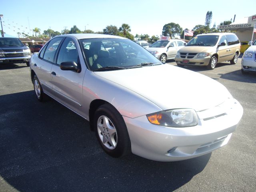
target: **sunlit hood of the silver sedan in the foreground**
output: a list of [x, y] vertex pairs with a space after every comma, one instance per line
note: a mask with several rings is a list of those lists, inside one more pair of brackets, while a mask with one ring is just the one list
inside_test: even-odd
[[163, 110], [200, 111], [232, 98], [216, 80], [169, 64], [94, 73], [136, 92]]

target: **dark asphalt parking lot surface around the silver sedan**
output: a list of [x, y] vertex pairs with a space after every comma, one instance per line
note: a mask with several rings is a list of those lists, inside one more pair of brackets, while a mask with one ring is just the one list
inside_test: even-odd
[[37, 101], [26, 64], [0, 65], [0, 191], [255, 192], [256, 74], [240, 65], [185, 67], [224, 84], [244, 115], [226, 146], [180, 162], [108, 156], [86, 120]]

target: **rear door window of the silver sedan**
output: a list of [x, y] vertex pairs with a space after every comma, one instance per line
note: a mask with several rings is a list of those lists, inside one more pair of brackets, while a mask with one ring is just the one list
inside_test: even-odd
[[58, 38], [54, 38], [53, 40], [51, 40], [48, 45], [47, 48], [44, 52], [44, 57], [43, 59], [48, 60], [50, 62], [54, 62], [54, 57], [56, 54], [56, 51], [58, 49], [58, 46], [60, 45], [60, 42], [62, 41], [63, 38], [58, 37]]

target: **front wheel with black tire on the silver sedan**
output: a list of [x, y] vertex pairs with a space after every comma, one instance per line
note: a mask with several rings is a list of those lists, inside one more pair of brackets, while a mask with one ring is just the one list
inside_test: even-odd
[[100, 106], [94, 114], [93, 124], [96, 138], [108, 155], [118, 158], [130, 154], [131, 142], [126, 124], [112, 105]]

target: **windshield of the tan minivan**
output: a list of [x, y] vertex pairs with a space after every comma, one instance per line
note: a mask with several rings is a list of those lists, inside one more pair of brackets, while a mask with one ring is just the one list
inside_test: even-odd
[[218, 35], [200, 35], [192, 38], [186, 46], [215, 46], [219, 39]]

